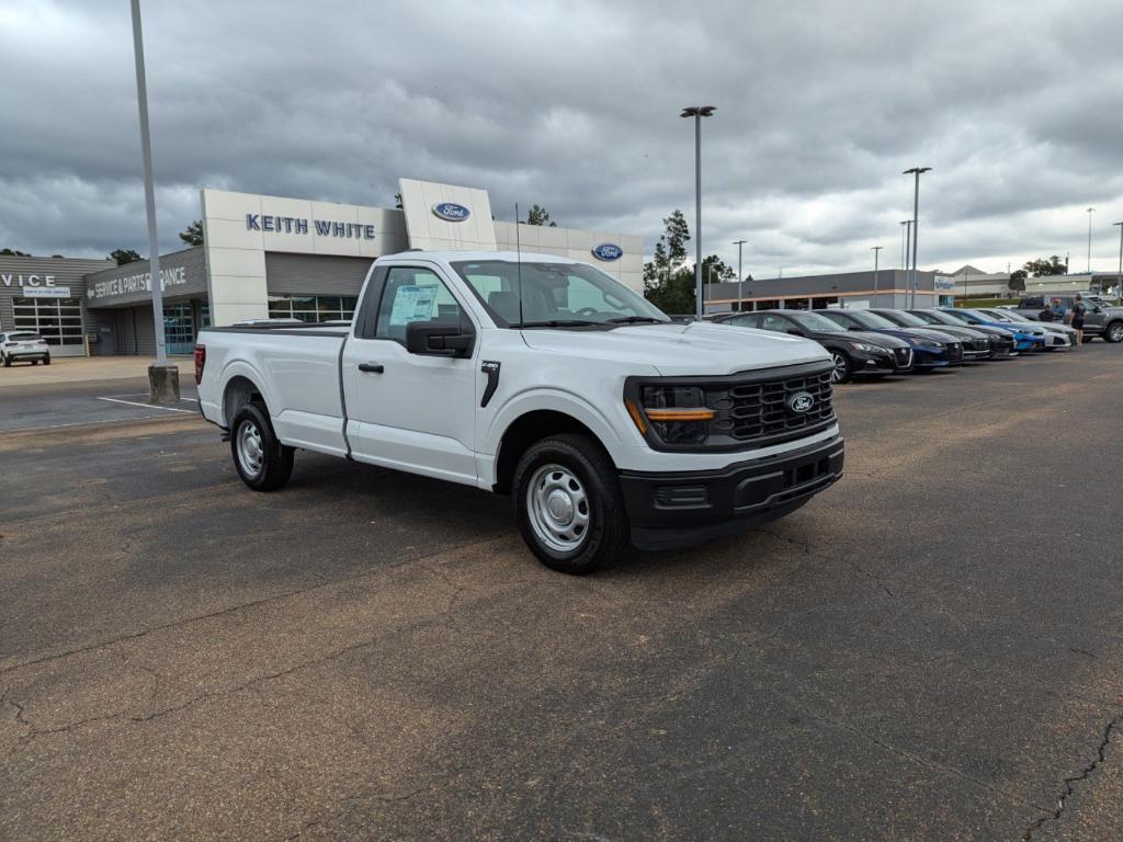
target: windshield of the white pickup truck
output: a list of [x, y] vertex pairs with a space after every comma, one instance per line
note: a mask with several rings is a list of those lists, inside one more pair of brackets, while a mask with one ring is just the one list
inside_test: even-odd
[[641, 295], [584, 263], [463, 260], [453, 268], [501, 328], [670, 321]]

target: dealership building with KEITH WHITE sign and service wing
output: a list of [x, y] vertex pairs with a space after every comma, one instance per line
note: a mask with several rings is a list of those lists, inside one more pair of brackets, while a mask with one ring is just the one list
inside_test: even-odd
[[[159, 258], [167, 353], [210, 324], [349, 319], [374, 258], [410, 249], [559, 255], [642, 290], [639, 236], [503, 222], [485, 190], [399, 185], [401, 209], [202, 190], [203, 245]], [[0, 332], [34, 330], [56, 356], [153, 355], [150, 291], [147, 260], [0, 256]]]

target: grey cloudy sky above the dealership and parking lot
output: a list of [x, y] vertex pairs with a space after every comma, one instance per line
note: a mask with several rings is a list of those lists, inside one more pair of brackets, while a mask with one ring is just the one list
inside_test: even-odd
[[[1114, 267], [1123, 7], [939, 2], [144, 0], [162, 250], [199, 187], [392, 207], [400, 176], [559, 225], [693, 229], [758, 277], [1071, 253]], [[0, 0], [0, 247], [146, 253], [127, 0]]]

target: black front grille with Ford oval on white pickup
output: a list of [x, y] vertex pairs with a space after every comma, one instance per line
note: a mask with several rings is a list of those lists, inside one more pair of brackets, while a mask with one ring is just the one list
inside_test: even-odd
[[[811, 395], [813, 403], [806, 412], [794, 412], [788, 399], [801, 393]], [[733, 385], [707, 397], [718, 412], [714, 427], [742, 442], [774, 443], [809, 434], [834, 421], [829, 370]]]

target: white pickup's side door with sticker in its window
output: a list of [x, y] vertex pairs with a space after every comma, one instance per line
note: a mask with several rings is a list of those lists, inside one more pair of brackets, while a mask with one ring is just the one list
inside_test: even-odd
[[[368, 287], [341, 359], [351, 455], [474, 485], [478, 326], [431, 267], [376, 271]], [[476, 340], [466, 358], [411, 354], [411, 322], [462, 324]]]

